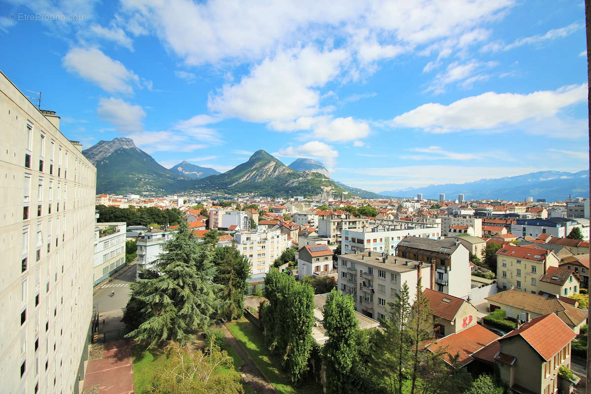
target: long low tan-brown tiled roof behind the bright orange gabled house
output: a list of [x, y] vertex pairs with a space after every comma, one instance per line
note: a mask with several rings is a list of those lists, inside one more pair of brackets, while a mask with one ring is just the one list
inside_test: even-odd
[[510, 289], [491, 295], [491, 297], [486, 297], [485, 299], [538, 315], [555, 313], [569, 327], [579, 325], [587, 318], [587, 312], [575, 308], [573, 305], [561, 301], [558, 298], [544, 297], [543, 295], [531, 294], [525, 291]]

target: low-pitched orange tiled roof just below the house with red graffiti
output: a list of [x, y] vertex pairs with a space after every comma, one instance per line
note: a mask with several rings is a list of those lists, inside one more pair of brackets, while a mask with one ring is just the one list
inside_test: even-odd
[[[449, 346], [447, 353], [450, 356], [459, 354], [459, 366], [463, 367], [467, 363], [472, 361], [470, 355], [479, 349], [482, 349], [492, 341], [495, 341], [499, 336], [492, 331], [487, 330], [480, 324], [473, 325], [472, 327], [466, 328], [459, 333], [450, 334], [447, 337], [443, 337], [440, 340], [431, 343], [427, 346], [427, 349], [433, 351], [433, 353], [441, 349], [442, 347]], [[448, 362], [448, 360], [445, 360]]]

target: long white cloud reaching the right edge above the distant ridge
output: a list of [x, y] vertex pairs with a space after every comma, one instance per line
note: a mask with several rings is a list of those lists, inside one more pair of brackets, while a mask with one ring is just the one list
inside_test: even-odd
[[559, 110], [586, 99], [586, 84], [564, 86], [557, 90], [544, 90], [528, 95], [488, 92], [457, 100], [450, 105], [421, 105], [396, 116], [392, 120], [392, 126], [421, 128], [437, 133], [493, 129], [515, 125], [527, 119], [548, 119], [557, 115]]

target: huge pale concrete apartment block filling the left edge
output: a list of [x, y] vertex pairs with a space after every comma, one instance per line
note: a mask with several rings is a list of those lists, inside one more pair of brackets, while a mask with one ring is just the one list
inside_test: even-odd
[[77, 393], [92, 322], [96, 168], [0, 73], [0, 391]]

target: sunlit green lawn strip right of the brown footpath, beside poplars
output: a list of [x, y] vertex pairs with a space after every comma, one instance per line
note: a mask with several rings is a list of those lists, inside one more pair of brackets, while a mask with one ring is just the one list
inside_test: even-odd
[[263, 343], [262, 333], [246, 318], [241, 318], [226, 324], [233, 336], [242, 344], [246, 353], [259, 366], [262, 372], [271, 380], [275, 389], [282, 394], [322, 393], [322, 388], [316, 383], [294, 388], [290, 384], [287, 373], [278, 369], [281, 364], [277, 358], [269, 353]]

